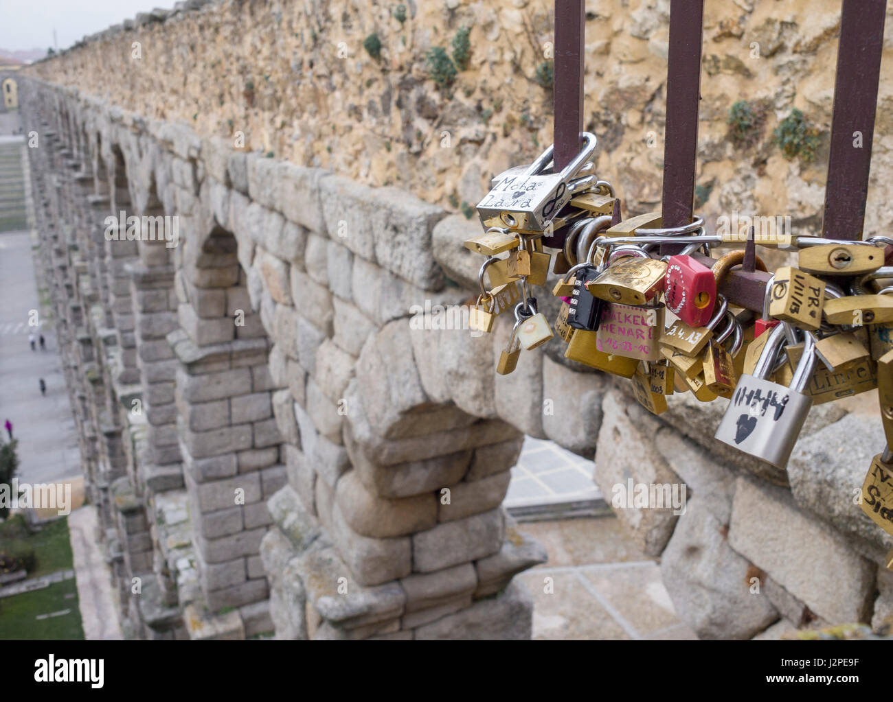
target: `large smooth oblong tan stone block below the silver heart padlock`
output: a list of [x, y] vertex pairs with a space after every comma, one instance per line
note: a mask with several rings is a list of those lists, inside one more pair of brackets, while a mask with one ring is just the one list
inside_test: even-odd
[[739, 478], [729, 542], [822, 618], [868, 621], [874, 566], [839, 533], [797, 509], [788, 491]]

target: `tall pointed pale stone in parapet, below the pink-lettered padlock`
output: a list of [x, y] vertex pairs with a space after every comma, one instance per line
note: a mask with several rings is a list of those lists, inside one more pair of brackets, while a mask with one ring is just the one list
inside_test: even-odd
[[[613, 506], [615, 495], [619, 499], [629, 491], [630, 480], [646, 486], [681, 484], [655, 449], [653, 440], [660, 423], [647, 410], [610, 390], [605, 393], [602, 412], [605, 418], [598, 432], [594, 477], [605, 502]], [[677, 491], [681, 495], [681, 487]], [[644, 553], [659, 556], [676, 524], [674, 508], [635, 507], [632, 495], [628, 497], [622, 507], [614, 508], [614, 514]]]

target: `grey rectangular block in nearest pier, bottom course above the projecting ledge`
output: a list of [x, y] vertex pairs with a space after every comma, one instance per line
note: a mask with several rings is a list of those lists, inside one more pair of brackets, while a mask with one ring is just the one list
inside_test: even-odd
[[413, 534], [413, 570], [430, 573], [496, 553], [505, 534], [502, 508]]

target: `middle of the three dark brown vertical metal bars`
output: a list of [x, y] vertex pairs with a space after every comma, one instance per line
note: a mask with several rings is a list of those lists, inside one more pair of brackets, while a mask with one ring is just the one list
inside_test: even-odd
[[[672, 0], [663, 135], [663, 227], [689, 224], [694, 209], [703, 37], [704, 0]], [[661, 247], [662, 254], [679, 250], [679, 244]]]

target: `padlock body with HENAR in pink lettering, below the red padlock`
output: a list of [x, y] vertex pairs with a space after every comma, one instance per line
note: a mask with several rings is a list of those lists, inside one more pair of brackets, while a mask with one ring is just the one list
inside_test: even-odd
[[598, 350], [630, 359], [662, 358], [657, 342], [663, 334], [664, 313], [663, 303], [653, 307], [605, 303], [597, 331]]

